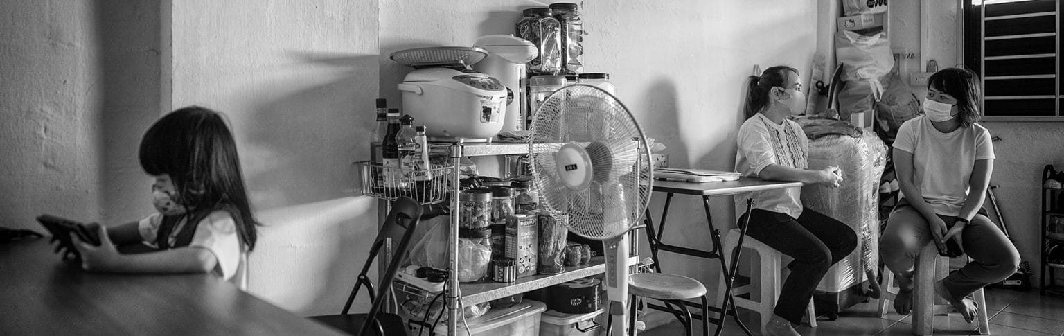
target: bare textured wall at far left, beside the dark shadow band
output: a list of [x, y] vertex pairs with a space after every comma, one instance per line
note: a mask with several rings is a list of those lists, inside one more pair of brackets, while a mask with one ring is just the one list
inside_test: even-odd
[[0, 1], [0, 225], [100, 217], [102, 97], [89, 1]]

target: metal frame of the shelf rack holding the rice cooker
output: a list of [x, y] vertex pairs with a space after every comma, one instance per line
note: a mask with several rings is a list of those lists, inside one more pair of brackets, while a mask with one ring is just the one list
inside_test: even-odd
[[[443, 202], [448, 200], [450, 202], [451, 208], [459, 208], [458, 204], [458, 194], [460, 186], [459, 179], [461, 174], [456, 173], [461, 171], [460, 161], [462, 157], [467, 156], [496, 156], [496, 155], [522, 155], [529, 153], [539, 153], [539, 152], [555, 152], [559, 148], [566, 144], [578, 144], [586, 145], [581, 142], [559, 142], [559, 144], [538, 144], [529, 145], [528, 142], [488, 142], [488, 144], [463, 144], [463, 142], [430, 142], [429, 152], [430, 156], [446, 156], [447, 165], [433, 166], [433, 171], [438, 170], [438, 174], [433, 178], [434, 186], [446, 186], [445, 188], [435, 188], [437, 194], [429, 195], [430, 197], [421, 199], [419, 201], [425, 201], [426, 203], [432, 202]], [[435, 161], [434, 161], [435, 162]], [[378, 192], [382, 190], [375, 190], [370, 188], [366, 192], [366, 186], [372, 186], [373, 172], [375, 170], [387, 171], [387, 169], [396, 168], [385, 168], [371, 163], [356, 163], [362, 172], [363, 182], [363, 195], [377, 197], [380, 199], [380, 204], [378, 205], [378, 220], [383, 222], [384, 216], [388, 211], [387, 201], [394, 200], [395, 197], [390, 197], [394, 194], [388, 192]], [[409, 173], [409, 171], [392, 171], [392, 173], [398, 173], [402, 175], [403, 173]], [[446, 177], [446, 178], [439, 178]], [[438, 181], [437, 181], [438, 179]], [[367, 182], [369, 182], [367, 184]], [[401, 196], [401, 195], [400, 195]], [[449, 197], [448, 197], [449, 196]], [[458, 216], [449, 216], [451, 228], [459, 226]], [[631, 241], [637, 241], [636, 234], [630, 232]], [[531, 276], [525, 276], [517, 279], [513, 283], [496, 283], [496, 282], [473, 282], [473, 283], [459, 283], [458, 281], [458, 230], [449, 230], [447, 237], [447, 262], [448, 262], [448, 276], [447, 286], [444, 286], [444, 302], [447, 308], [447, 331], [448, 335], [458, 334], [458, 322], [461, 321], [458, 315], [462, 313], [462, 306], [468, 306], [478, 303], [488, 302], [495, 299], [501, 299], [510, 297], [513, 295], [526, 292], [533, 289], [538, 289], [551, 285], [561, 284], [564, 282], [593, 276], [597, 274], [602, 274], [605, 272], [605, 266], [603, 265], [603, 257], [593, 257], [591, 265], [580, 266], [580, 267], [566, 267], [566, 271], [560, 274], [536, 274]], [[631, 254], [629, 254], [628, 265], [636, 265], [637, 259], [637, 247], [638, 245], [633, 243], [631, 248]], [[629, 268], [630, 272], [632, 267]], [[423, 297], [432, 298], [437, 295], [438, 289], [426, 288], [427, 285], [422, 284], [417, 286], [412, 284], [413, 282], [403, 282], [401, 279], [397, 279], [397, 282], [393, 286], [394, 289], [403, 291], [406, 293], [418, 295]], [[435, 285], [438, 286], [438, 285]], [[461, 293], [461, 305], [459, 304]]]

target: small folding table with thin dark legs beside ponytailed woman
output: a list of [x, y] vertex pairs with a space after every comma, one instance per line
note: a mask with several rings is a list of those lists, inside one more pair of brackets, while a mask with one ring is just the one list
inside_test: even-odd
[[[800, 186], [802, 186], [801, 182], [764, 181], [754, 178], [739, 178], [738, 181], [705, 182], [705, 183], [654, 181], [653, 190], [659, 192], [666, 192], [666, 197], [665, 197], [665, 207], [662, 209], [662, 217], [661, 221], [659, 221], [658, 223], [658, 228], [654, 228], [653, 220], [650, 217], [649, 208], [647, 209], [646, 214], [647, 237], [650, 240], [650, 255], [654, 261], [654, 264], [651, 267], [654, 268], [658, 272], [661, 272], [661, 263], [658, 259], [658, 252], [662, 251], [720, 261], [720, 271], [726, 274], [725, 297], [721, 299], [719, 307], [714, 307], [714, 306], [710, 307], [710, 310], [720, 315], [719, 318], [715, 319], [714, 321], [714, 319], [709, 319], [708, 317], [699, 316], [697, 314], [693, 315], [694, 317], [699, 319], [709, 319], [710, 322], [717, 324], [717, 331], [715, 335], [720, 335], [720, 332], [724, 330], [724, 321], [725, 318], [727, 317], [728, 307], [730, 307], [732, 312], [735, 312], [735, 303], [732, 302], [731, 300], [732, 299], [731, 290], [735, 280], [736, 270], [738, 269], [738, 267], [735, 266], [738, 264], [739, 254], [742, 253], [743, 249], [738, 249], [735, 253], [732, 254], [731, 263], [728, 263], [728, 261], [725, 259], [724, 253], [721, 251], [722, 245], [720, 242], [720, 231], [713, 225], [713, 218], [710, 216], [710, 197], [737, 195], [751, 191], [783, 189], [783, 188], [800, 187]], [[704, 250], [668, 245], [662, 241], [662, 235], [665, 232], [665, 219], [668, 217], [669, 204], [672, 201], [672, 196], [675, 196], [676, 194], [702, 197], [702, 206], [705, 211], [705, 222], [706, 224], [710, 225], [710, 238], [713, 241], [713, 250], [704, 251]], [[751, 204], [753, 204], [753, 199], [747, 197], [746, 221], [739, 225], [741, 234], [738, 237], [738, 243], [736, 246], [743, 246], [743, 240], [744, 238], [746, 238], [746, 229], [747, 225], [750, 223], [749, 214], [751, 209]], [[686, 302], [686, 301], [684, 302], [687, 303], [689, 306], [700, 307], [700, 304], [698, 303]], [[678, 310], [676, 308], [672, 308], [671, 305], [668, 304], [666, 304], [665, 306], [656, 304], [648, 304], [647, 306], [660, 310], [669, 312], [672, 314], [686, 314], [685, 307], [681, 307], [683, 310]], [[743, 324], [743, 321], [738, 319], [738, 316], [734, 314], [733, 316], [735, 317], [735, 322], [738, 323], [739, 327], [742, 327], [747, 335], [752, 335], [750, 333], [750, 330], [748, 330], [746, 325]]]

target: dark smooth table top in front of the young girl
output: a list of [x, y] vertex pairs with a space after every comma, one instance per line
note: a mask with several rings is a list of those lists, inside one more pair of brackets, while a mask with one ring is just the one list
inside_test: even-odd
[[342, 335], [209, 274], [109, 274], [0, 243], [0, 335]]

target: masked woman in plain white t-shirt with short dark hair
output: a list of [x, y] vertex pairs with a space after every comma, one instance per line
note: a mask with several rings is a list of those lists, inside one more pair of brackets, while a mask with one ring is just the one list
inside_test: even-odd
[[[961, 68], [935, 72], [928, 80], [924, 115], [905, 121], [894, 142], [894, 167], [901, 186], [880, 242], [883, 264], [895, 273], [898, 314], [912, 309], [916, 256], [933, 241], [940, 253], [972, 262], [935, 283], [971, 322], [976, 305], [967, 295], [1004, 280], [1016, 270], [1019, 253], [982, 211], [994, 171], [991, 134], [980, 119], [979, 77]], [[952, 241], [950, 241], [952, 239]], [[951, 252], [951, 250], [954, 250]]]

